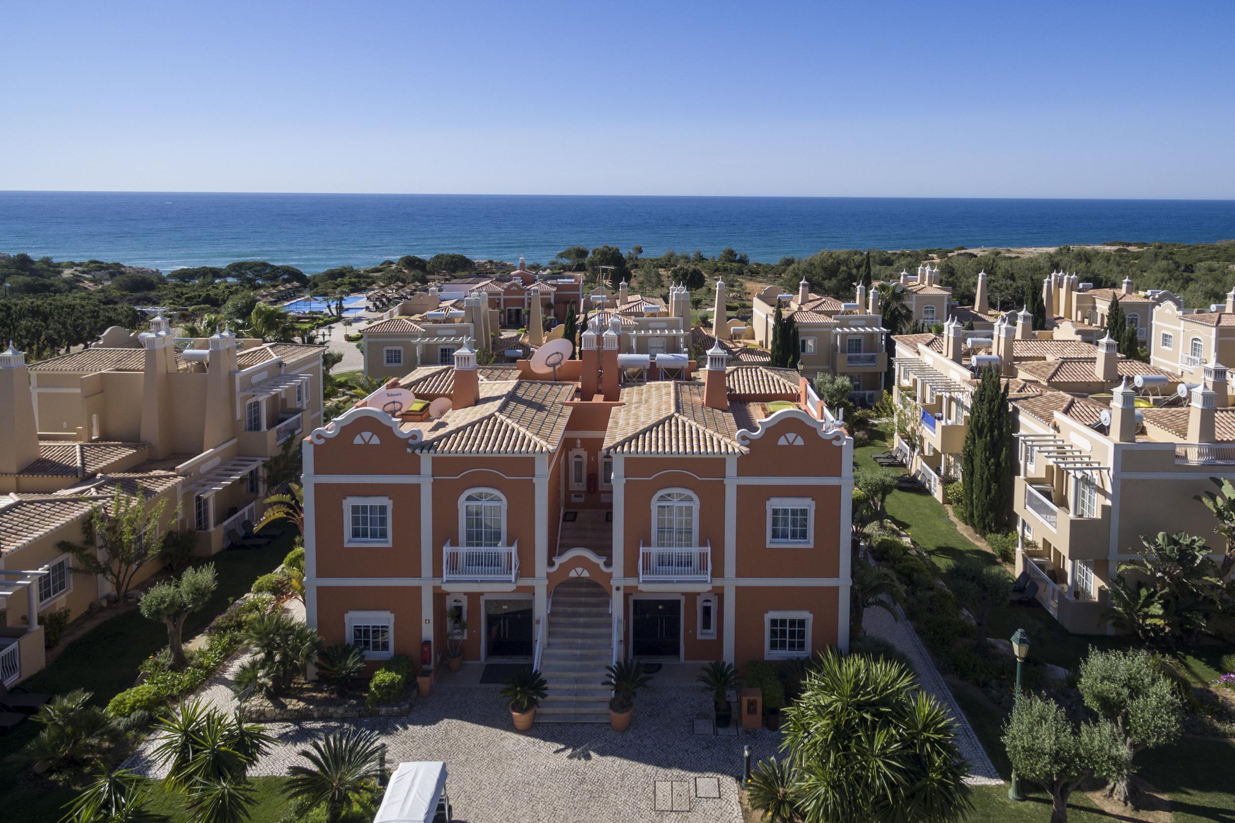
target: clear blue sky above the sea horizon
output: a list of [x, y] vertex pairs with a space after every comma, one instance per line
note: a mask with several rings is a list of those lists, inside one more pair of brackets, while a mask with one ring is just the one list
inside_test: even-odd
[[11, 2], [0, 189], [1235, 197], [1235, 2]]

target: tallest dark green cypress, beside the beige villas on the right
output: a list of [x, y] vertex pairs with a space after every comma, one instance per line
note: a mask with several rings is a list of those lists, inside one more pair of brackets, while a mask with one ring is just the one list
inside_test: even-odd
[[973, 392], [969, 428], [961, 452], [961, 517], [978, 534], [997, 532], [1011, 503], [1011, 413], [1008, 384], [994, 368], [983, 369]]

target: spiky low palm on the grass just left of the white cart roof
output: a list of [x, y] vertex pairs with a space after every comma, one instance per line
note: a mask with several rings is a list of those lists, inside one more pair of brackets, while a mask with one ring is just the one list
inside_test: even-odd
[[374, 791], [380, 776], [382, 744], [371, 729], [356, 727], [331, 732], [300, 749], [308, 766], [288, 767], [284, 793], [309, 808], [326, 807], [326, 823], [338, 823], [359, 797]]

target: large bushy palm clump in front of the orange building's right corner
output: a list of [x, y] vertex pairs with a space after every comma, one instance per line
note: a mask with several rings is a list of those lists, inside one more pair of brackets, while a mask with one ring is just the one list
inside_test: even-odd
[[[958, 823], [972, 811], [955, 723], [899, 661], [819, 655], [781, 745], [803, 823]], [[782, 781], [783, 782], [783, 781]]]

